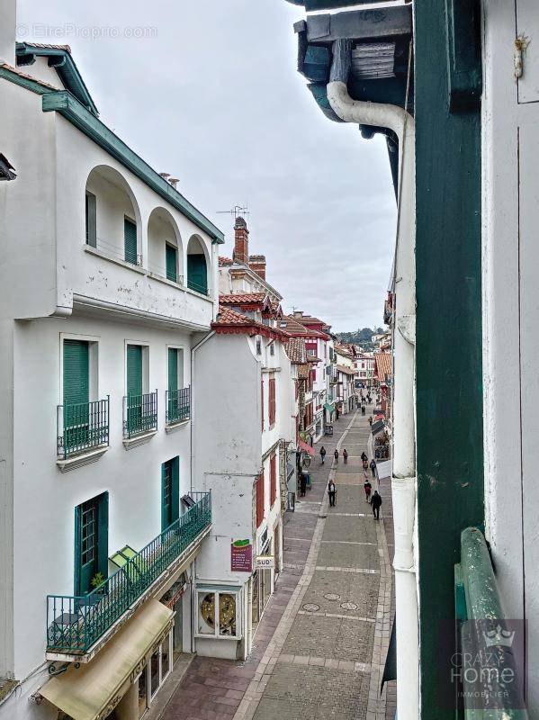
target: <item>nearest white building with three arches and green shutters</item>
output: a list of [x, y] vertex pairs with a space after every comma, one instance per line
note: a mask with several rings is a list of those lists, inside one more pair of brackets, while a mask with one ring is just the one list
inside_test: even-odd
[[103, 125], [69, 49], [20, 44], [15, 60], [14, 8], [12, 20], [0, 47], [17, 174], [0, 184], [0, 717], [87, 703], [138, 720], [194, 646], [211, 497], [192, 492], [192, 347], [216, 315], [223, 238]]

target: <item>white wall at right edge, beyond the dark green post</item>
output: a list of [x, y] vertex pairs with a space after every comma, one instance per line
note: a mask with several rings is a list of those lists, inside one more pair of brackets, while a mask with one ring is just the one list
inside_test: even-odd
[[[539, 16], [483, 3], [483, 389], [487, 539], [508, 617], [528, 620], [528, 702], [539, 712]], [[514, 77], [514, 40], [531, 40]], [[532, 50], [532, 45], [535, 47]]]

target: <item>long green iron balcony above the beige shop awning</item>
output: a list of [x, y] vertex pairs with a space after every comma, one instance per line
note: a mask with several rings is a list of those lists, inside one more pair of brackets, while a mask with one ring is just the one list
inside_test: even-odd
[[194, 492], [193, 507], [85, 596], [47, 596], [47, 652], [92, 653], [128, 611], [160, 590], [211, 526], [211, 493]]

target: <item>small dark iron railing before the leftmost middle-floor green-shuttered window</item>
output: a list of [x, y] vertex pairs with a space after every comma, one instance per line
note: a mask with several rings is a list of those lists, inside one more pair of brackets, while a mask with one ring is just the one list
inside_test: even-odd
[[58, 405], [58, 457], [67, 460], [93, 447], [109, 444], [110, 396], [106, 400]]

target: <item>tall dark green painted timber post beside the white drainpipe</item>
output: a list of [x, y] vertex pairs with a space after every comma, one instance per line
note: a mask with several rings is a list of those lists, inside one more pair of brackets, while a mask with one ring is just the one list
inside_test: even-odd
[[421, 719], [443, 720], [454, 710], [442, 705], [440, 632], [461, 531], [484, 515], [481, 115], [449, 111], [445, 3], [416, 0], [414, 12]]

